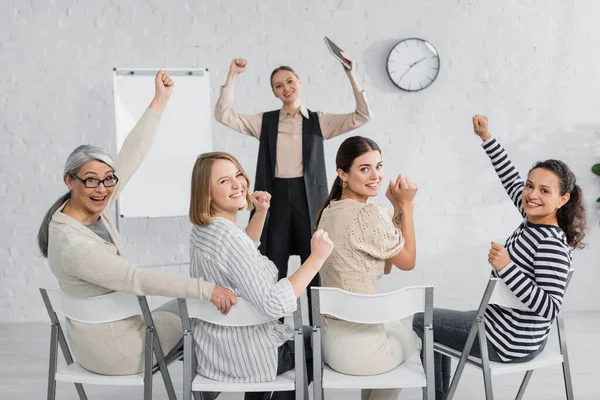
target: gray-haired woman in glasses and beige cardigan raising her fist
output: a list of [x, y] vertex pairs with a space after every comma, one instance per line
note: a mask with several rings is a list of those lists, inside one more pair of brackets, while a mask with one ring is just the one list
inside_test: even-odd
[[[122, 257], [123, 243], [108, 208], [150, 151], [173, 91], [166, 71], [157, 73], [155, 87], [154, 99], [114, 162], [96, 146], [79, 146], [69, 155], [64, 170], [69, 192], [48, 210], [38, 233], [40, 250], [67, 295], [92, 297], [121, 291], [199, 298], [227, 313], [236, 301], [229, 289], [202, 279], [138, 269]], [[181, 321], [173, 312], [155, 311], [152, 316], [168, 353], [182, 337]], [[104, 375], [143, 371], [145, 325], [140, 316], [107, 324], [67, 319], [66, 325], [75, 357], [88, 370]]]

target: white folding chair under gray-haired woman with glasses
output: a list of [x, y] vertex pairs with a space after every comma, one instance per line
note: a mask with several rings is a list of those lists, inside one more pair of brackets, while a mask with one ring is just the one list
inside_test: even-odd
[[[75, 383], [80, 400], [87, 396], [82, 384], [108, 386], [143, 386], [144, 400], [152, 398], [152, 376], [156, 371], [161, 372], [169, 400], [176, 400], [173, 383], [167, 365], [181, 357], [181, 352], [165, 360], [156, 331], [152, 314], [146, 298], [130, 293], [113, 292], [102, 296], [74, 298], [50, 289], [40, 288], [40, 293], [48, 316], [51, 321], [50, 365], [48, 370], [48, 400], [56, 396], [56, 382]], [[88, 371], [79, 363], [73, 361], [63, 329], [56, 313], [61, 313], [72, 321], [87, 324], [102, 324], [119, 321], [135, 315], [142, 315], [146, 324], [146, 348], [144, 355], [145, 368], [143, 373], [126, 376], [100, 375]], [[57, 370], [58, 345], [62, 349], [67, 366]], [[152, 354], [158, 362], [153, 367]]]

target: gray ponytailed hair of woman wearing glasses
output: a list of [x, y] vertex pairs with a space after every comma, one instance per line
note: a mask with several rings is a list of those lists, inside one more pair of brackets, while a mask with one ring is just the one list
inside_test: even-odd
[[[73, 150], [73, 152], [69, 154], [69, 157], [67, 157], [63, 178], [67, 175], [77, 174], [83, 164], [89, 161], [100, 161], [111, 167], [113, 170], [115, 169], [115, 162], [110, 154], [106, 152], [106, 150], [98, 146], [84, 144]], [[71, 192], [69, 191], [56, 200], [44, 216], [44, 220], [42, 221], [42, 225], [38, 231], [38, 246], [40, 247], [42, 255], [46, 258], [48, 258], [48, 227], [50, 226], [52, 215], [54, 215], [56, 210], [58, 210], [60, 206], [62, 206], [65, 201], [69, 200], [70, 198]]]

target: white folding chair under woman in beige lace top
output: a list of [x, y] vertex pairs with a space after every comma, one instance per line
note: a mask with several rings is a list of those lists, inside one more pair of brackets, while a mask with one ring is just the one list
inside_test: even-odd
[[[313, 287], [314, 400], [323, 398], [323, 389], [423, 388], [423, 398], [435, 399], [433, 371], [433, 286], [412, 286], [390, 293], [364, 295], [338, 288]], [[382, 324], [424, 312], [424, 365], [419, 352], [392, 371], [373, 376], [339, 373], [323, 363], [322, 315], [361, 324]]]

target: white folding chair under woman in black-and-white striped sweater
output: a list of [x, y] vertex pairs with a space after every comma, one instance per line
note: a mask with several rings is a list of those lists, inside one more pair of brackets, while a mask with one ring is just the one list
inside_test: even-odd
[[[573, 275], [574, 270], [570, 270], [567, 274], [566, 288]], [[556, 326], [558, 333], [559, 351], [545, 348], [544, 351], [536, 356], [533, 360], [524, 363], [499, 363], [489, 360], [487, 350], [487, 340], [485, 339], [485, 322], [484, 313], [488, 304], [498, 304], [503, 307], [514, 308], [518, 310], [527, 310], [528, 308], [511, 292], [511, 290], [499, 278], [490, 278], [481, 304], [477, 310], [477, 317], [473, 322], [465, 347], [462, 352], [454, 350], [440, 343], [434, 344], [434, 350], [438, 353], [458, 359], [458, 366], [452, 378], [452, 383], [448, 389], [447, 400], [452, 400], [458, 387], [458, 382], [464, 371], [465, 365], [478, 368], [483, 373], [483, 382], [485, 387], [486, 400], [493, 400], [494, 393], [492, 390], [492, 376], [512, 374], [517, 372], [525, 372], [525, 377], [521, 382], [519, 391], [517, 392], [516, 400], [521, 400], [525, 393], [525, 389], [531, 379], [533, 371], [538, 368], [549, 367], [556, 364], [562, 364], [563, 378], [565, 382], [565, 391], [567, 400], [573, 400], [573, 384], [571, 381], [571, 368], [569, 366], [569, 356], [567, 352], [567, 340], [565, 336], [565, 324], [562, 315], [556, 317]], [[475, 337], [479, 332], [482, 332], [479, 337], [479, 346], [481, 349], [481, 358], [469, 355]]]

